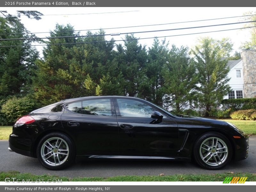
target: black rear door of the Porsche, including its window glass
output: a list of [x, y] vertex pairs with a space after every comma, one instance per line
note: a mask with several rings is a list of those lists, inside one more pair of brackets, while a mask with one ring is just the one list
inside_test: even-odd
[[77, 155], [118, 155], [118, 126], [112, 98], [76, 101], [64, 108], [62, 126], [73, 135]]

